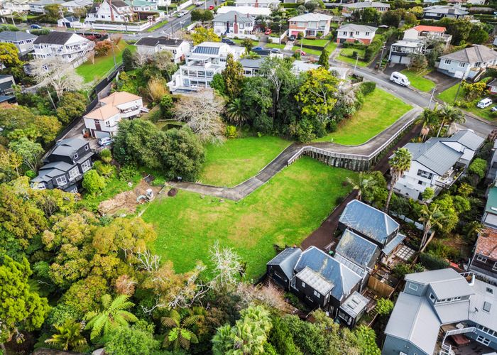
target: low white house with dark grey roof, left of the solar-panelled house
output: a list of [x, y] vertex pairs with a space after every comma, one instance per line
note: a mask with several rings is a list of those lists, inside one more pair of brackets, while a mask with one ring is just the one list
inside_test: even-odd
[[190, 53], [190, 43], [186, 40], [171, 39], [165, 37], [143, 37], [135, 43], [136, 51], [143, 55], [153, 55], [163, 50], [173, 53], [175, 63], [185, 60], [187, 53]]

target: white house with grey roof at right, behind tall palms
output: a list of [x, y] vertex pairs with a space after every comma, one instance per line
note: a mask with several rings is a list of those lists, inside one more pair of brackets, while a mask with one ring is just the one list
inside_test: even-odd
[[437, 195], [459, 178], [484, 138], [471, 130], [457, 131], [452, 137], [430, 138], [425, 143], [408, 143], [404, 146], [413, 158], [410, 169], [395, 183], [399, 195], [422, 200], [427, 187]]

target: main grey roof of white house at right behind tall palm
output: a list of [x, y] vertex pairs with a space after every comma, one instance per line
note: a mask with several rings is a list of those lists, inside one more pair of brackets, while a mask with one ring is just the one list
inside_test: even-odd
[[407, 143], [404, 148], [410, 151], [413, 160], [425, 165], [438, 175], [444, 175], [463, 155], [432, 138], [425, 143]]

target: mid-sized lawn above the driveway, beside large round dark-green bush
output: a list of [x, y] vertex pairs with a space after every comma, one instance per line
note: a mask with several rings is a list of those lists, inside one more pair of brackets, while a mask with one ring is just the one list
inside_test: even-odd
[[207, 146], [200, 182], [234, 186], [256, 175], [290, 145], [279, 137], [262, 136], [229, 139], [222, 145]]

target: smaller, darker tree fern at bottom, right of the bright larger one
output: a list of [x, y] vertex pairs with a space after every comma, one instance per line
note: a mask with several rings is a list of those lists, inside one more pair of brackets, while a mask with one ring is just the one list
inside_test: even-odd
[[190, 343], [197, 344], [199, 342], [197, 335], [188, 328], [192, 327], [198, 320], [198, 315], [189, 315], [182, 319], [176, 310], [172, 310], [169, 317], [162, 319], [162, 324], [170, 328], [165, 334], [164, 346], [173, 345], [174, 351], [178, 351], [180, 347], [185, 350], [190, 349]]

